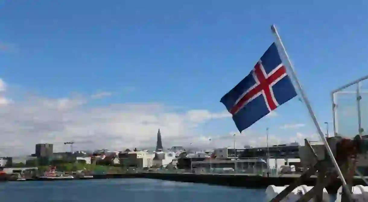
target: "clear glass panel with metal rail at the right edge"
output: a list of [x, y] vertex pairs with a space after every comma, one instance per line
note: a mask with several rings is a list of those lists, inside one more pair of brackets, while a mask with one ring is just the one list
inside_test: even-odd
[[335, 136], [365, 135], [368, 127], [368, 76], [332, 91]]

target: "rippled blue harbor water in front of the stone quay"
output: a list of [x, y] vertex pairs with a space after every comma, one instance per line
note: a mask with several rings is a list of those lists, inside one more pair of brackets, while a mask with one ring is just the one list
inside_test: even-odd
[[142, 178], [0, 183], [2, 202], [262, 202], [264, 197], [265, 190]]

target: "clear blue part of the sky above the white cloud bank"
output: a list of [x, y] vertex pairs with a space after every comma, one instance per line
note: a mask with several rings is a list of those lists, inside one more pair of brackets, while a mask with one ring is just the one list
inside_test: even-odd
[[[15, 89], [14, 97], [15, 91], [47, 98], [108, 91], [113, 96], [90, 105], [155, 102], [179, 112], [219, 112], [225, 109], [220, 98], [273, 42], [274, 23], [318, 119], [332, 121], [330, 91], [366, 74], [367, 6], [313, 0], [1, 0], [0, 77]], [[312, 133], [302, 107], [294, 99], [254, 130]], [[285, 124], [307, 126], [278, 129]], [[224, 118], [198, 130], [228, 134], [236, 127]]]

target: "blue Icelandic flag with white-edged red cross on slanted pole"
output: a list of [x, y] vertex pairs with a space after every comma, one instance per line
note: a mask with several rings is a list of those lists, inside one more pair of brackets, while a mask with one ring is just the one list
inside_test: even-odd
[[276, 44], [272, 43], [249, 75], [220, 102], [233, 115], [241, 132], [296, 95]]

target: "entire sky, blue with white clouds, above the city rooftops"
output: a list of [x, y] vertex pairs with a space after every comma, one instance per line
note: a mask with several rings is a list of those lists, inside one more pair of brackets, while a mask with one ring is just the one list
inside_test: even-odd
[[[298, 98], [241, 135], [220, 98], [274, 42], [276, 24], [326, 132], [330, 92], [366, 74], [366, 4], [4, 1], [0, 155], [28, 154], [36, 143], [67, 151], [64, 142], [86, 140], [73, 147], [154, 147], [158, 129], [165, 147], [231, 147], [233, 134], [237, 145], [266, 145], [266, 128], [270, 144], [318, 140]], [[354, 96], [339, 97], [340, 126], [351, 134]], [[364, 94], [363, 128], [367, 105]]]

